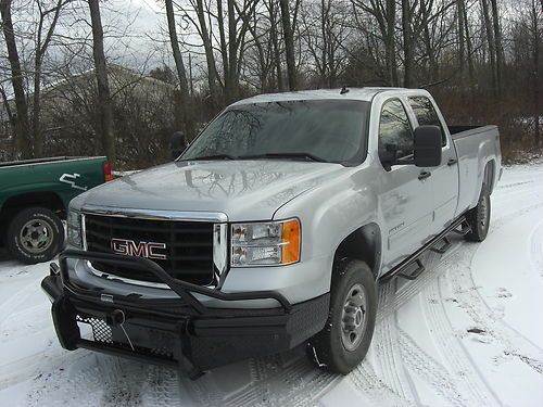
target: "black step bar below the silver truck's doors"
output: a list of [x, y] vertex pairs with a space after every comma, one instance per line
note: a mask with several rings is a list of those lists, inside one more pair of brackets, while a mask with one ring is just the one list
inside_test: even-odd
[[[449, 233], [455, 232], [455, 233], [464, 236], [471, 230], [469, 227], [463, 226], [463, 224], [465, 224], [465, 221], [466, 221], [466, 217], [464, 215], [460, 215], [459, 217], [457, 217], [441, 233], [435, 236], [428, 243], [426, 243], [422, 247], [420, 247], [415, 253], [413, 253], [409, 257], [405, 258], [397, 266], [393, 267], [391, 270], [389, 270], [387, 274], [384, 274], [379, 279], [379, 282], [390, 281], [392, 278], [394, 278], [396, 276], [406, 278], [408, 280], [416, 279], [425, 270], [422, 262], [419, 259], [419, 257], [429, 250], [432, 250], [432, 251], [434, 251], [437, 253], [441, 253], [441, 254], [444, 253], [445, 251], [447, 251], [451, 247], [451, 241], [449, 239], [446, 239]], [[462, 226], [462, 230], [456, 230], [460, 226]], [[466, 229], [468, 229], [468, 230], [466, 230]], [[440, 241], [444, 241], [445, 243], [441, 247], [433, 247]], [[414, 264], [416, 264], [418, 267], [415, 270], [408, 272], [407, 269]]]

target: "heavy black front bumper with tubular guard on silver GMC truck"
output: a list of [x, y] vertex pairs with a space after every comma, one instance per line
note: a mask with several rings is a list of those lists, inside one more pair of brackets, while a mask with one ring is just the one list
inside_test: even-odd
[[[143, 298], [137, 293], [110, 295], [70, 281], [66, 258], [128, 262], [147, 267], [178, 298]], [[65, 251], [60, 267], [41, 282], [52, 301], [61, 345], [83, 347], [148, 363], [179, 366], [191, 377], [250, 357], [290, 349], [319, 332], [329, 310], [329, 294], [291, 305], [275, 292], [223, 293], [172, 279], [146, 258]], [[274, 298], [276, 308], [209, 308], [193, 292], [225, 301]], [[89, 328], [89, 335], [81, 333]]]

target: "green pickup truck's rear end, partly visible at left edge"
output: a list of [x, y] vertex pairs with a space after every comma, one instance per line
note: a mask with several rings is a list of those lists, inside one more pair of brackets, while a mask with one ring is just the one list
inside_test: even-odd
[[26, 264], [50, 260], [64, 246], [70, 201], [111, 179], [104, 156], [0, 163], [0, 246]]

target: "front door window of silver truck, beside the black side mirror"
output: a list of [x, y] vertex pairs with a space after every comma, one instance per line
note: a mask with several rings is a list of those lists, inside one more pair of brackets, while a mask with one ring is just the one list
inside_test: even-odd
[[399, 99], [392, 99], [382, 105], [379, 119], [379, 158], [381, 163], [390, 161], [390, 153], [395, 157], [413, 155], [413, 129], [407, 113]]

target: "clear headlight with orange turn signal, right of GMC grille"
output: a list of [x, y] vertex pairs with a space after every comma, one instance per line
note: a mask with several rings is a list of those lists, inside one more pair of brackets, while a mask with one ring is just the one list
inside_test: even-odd
[[231, 227], [231, 266], [288, 265], [300, 259], [300, 220], [235, 224]]

